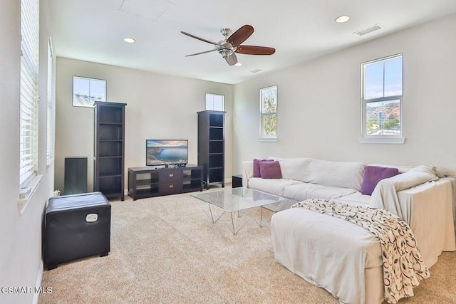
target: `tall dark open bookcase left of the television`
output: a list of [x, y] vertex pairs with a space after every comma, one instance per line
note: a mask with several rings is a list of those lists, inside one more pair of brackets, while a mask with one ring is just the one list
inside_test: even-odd
[[124, 199], [125, 103], [95, 103], [93, 191]]

